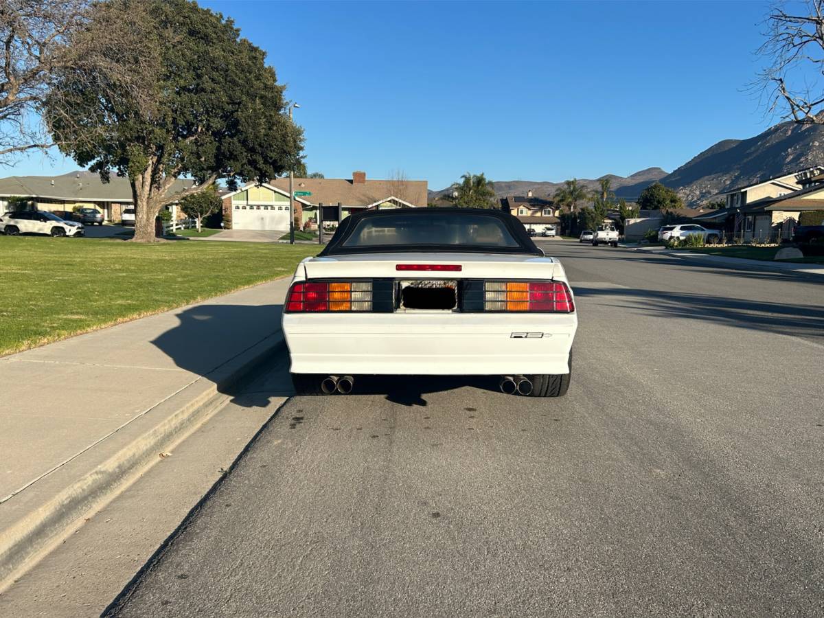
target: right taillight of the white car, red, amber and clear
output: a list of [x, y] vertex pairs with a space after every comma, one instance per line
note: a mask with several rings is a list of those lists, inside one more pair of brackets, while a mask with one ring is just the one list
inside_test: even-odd
[[487, 281], [484, 310], [572, 313], [575, 306], [567, 284], [560, 281]]

